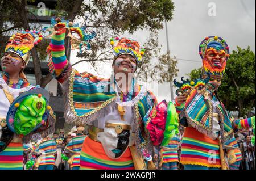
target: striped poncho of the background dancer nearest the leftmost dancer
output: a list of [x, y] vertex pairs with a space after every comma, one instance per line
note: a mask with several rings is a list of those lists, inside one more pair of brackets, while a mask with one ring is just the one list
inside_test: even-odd
[[42, 157], [42, 160], [40, 161], [40, 165], [55, 164], [54, 154], [57, 151], [57, 144], [55, 140], [47, 140], [47, 141], [41, 142], [35, 151], [39, 153], [43, 153], [43, 157]]

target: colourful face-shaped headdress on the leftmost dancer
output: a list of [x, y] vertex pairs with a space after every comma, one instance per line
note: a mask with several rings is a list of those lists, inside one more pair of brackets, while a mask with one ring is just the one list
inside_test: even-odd
[[25, 65], [30, 61], [30, 50], [42, 41], [43, 35], [39, 31], [26, 30], [11, 36], [7, 42], [5, 53], [13, 52], [18, 54]]

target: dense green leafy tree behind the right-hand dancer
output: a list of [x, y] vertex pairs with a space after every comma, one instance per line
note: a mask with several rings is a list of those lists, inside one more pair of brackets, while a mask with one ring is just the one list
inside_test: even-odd
[[[188, 74], [195, 79], [201, 69], [194, 69]], [[228, 59], [224, 78], [218, 89], [218, 95], [229, 111], [238, 111], [238, 116], [251, 117], [255, 107], [255, 54], [250, 50], [237, 47]]]

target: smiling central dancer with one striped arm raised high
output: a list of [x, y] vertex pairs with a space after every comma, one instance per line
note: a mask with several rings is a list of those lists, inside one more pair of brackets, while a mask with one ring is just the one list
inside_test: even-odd
[[[64, 52], [66, 28], [72, 32], [73, 24], [55, 20], [56, 32], [48, 50], [55, 69], [53, 75], [63, 84], [65, 120], [90, 127], [80, 154], [80, 169], [146, 169], [142, 154], [148, 155], [153, 149], [144, 117], [156, 99], [133, 77], [144, 49], [133, 39], [111, 39], [112, 76], [104, 79], [79, 73]], [[94, 32], [80, 37], [93, 38]]]

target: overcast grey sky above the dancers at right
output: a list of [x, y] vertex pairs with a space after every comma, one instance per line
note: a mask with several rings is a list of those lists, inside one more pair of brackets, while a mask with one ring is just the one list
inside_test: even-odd
[[[217, 35], [224, 38], [230, 50], [236, 50], [237, 45], [242, 48], [247, 48], [249, 45], [255, 52], [255, 0], [175, 0], [174, 2], [174, 19], [168, 22], [167, 27], [171, 55], [179, 59], [178, 80], [202, 65], [198, 46], [206, 36]], [[216, 3], [216, 16], [208, 15], [210, 2]], [[125, 33], [124, 36], [133, 37], [143, 43], [148, 35], [148, 31], [140, 30], [133, 35]], [[166, 53], [165, 29], [159, 31], [159, 35], [159, 42], [163, 45], [162, 53]], [[81, 66], [77, 68], [80, 68], [80, 72], [84, 70]], [[108, 77], [111, 69], [106, 68], [106, 65], [105, 69], [104, 77]], [[155, 87], [155, 91], [158, 92], [159, 101], [170, 100], [170, 83]]]

